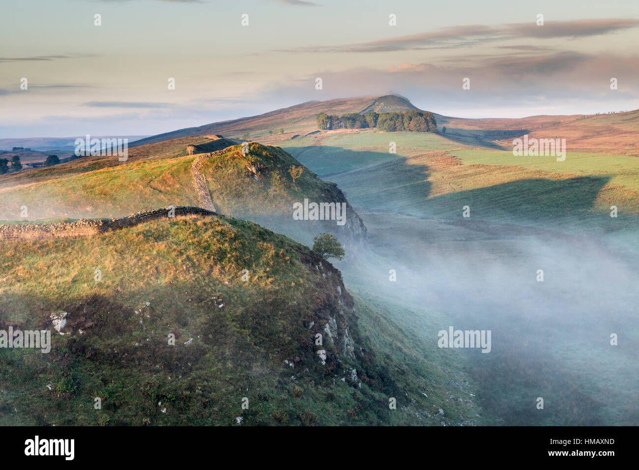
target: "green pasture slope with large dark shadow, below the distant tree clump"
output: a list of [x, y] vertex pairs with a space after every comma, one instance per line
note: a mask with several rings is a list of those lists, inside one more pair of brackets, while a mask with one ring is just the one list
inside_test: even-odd
[[[396, 155], [385, 151], [390, 139]], [[285, 148], [336, 182], [356, 208], [461, 217], [469, 205], [481, 219], [547, 227], [560, 220], [569, 223], [565, 228], [596, 224], [610, 231], [633, 226], [639, 215], [635, 157], [568, 153], [557, 162], [459, 148], [442, 136], [410, 132], [343, 134], [313, 144], [306, 138]], [[617, 219], [610, 217], [611, 205], [619, 209]]]

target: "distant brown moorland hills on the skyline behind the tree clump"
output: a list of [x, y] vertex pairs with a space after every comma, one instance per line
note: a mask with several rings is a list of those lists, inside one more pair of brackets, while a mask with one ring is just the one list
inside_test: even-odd
[[[146, 137], [132, 146], [158, 143], [187, 136], [223, 134], [250, 138], [277, 145], [300, 136], [326, 134], [318, 132], [316, 116], [319, 113], [343, 115], [369, 111], [392, 112], [419, 110], [406, 98], [397, 95], [366, 98], [340, 98], [312, 101], [290, 106], [270, 113], [230, 121], [206, 124], [200, 127], [175, 130]], [[432, 110], [429, 110], [433, 112]], [[530, 138], [565, 138], [571, 152], [608, 152], [639, 155], [635, 133], [639, 130], [639, 110], [617, 114], [576, 114], [566, 116], [529, 116], [526, 118], [454, 118], [433, 112], [439, 132], [445, 138], [462, 145], [480, 146], [499, 150], [512, 150], [512, 139], [529, 134]], [[270, 130], [284, 129], [284, 134]], [[328, 131], [349, 132], [348, 131]], [[314, 137], [318, 137], [315, 135]]]

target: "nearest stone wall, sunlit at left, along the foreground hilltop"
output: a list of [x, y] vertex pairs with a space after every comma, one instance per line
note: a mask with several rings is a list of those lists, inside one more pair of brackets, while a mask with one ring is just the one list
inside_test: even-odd
[[[154, 219], [169, 217], [171, 207], [143, 210], [117, 219], [81, 219], [56, 224], [0, 225], [0, 240], [43, 240], [58, 237], [91, 237], [105, 231], [134, 226]], [[174, 207], [175, 217], [181, 215], [219, 215], [201, 207]]]

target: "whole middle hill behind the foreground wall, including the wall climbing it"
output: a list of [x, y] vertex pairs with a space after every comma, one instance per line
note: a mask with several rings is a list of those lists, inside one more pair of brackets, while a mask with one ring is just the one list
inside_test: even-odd
[[[232, 141], [222, 137], [174, 139], [137, 147], [127, 162], [86, 157], [21, 176], [2, 175], [0, 220], [95, 219], [182, 205], [249, 219], [309, 245], [321, 231], [347, 243], [366, 238], [366, 227], [335, 184], [321, 180], [281, 148], [250, 143], [245, 154], [242, 146], [225, 147], [227, 143]], [[189, 146], [206, 153], [187, 155]], [[294, 166], [302, 169], [295, 182], [289, 173]], [[344, 205], [343, 221], [295, 220], [293, 204], [305, 200]], [[27, 207], [27, 217], [20, 217], [20, 207]]]

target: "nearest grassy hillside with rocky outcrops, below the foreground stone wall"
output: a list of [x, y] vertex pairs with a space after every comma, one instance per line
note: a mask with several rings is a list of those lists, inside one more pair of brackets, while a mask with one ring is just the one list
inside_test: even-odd
[[[69, 316], [50, 354], [0, 349], [3, 424], [231, 425], [237, 416], [243, 425], [468, 423], [476, 414], [468, 395], [448, 405], [447, 373], [424, 357], [413, 364], [414, 351], [394, 357], [389, 345], [397, 333], [380, 335], [387, 330], [368, 301], [358, 301], [362, 336], [350, 296], [337, 297], [337, 272], [316, 269], [313, 259], [286, 237], [220, 217], [4, 244], [3, 327], [39, 329], [50, 327], [52, 312]], [[356, 357], [343, 356], [325, 336], [322, 366], [313, 339], [329, 315], [341, 333], [349, 327]], [[169, 333], [177, 335], [174, 346]], [[351, 367], [361, 388], [348, 379]], [[459, 364], [450, 367], [459, 372]], [[428, 400], [424, 375], [415, 377], [427, 368]], [[96, 396], [107, 398], [100, 411]], [[389, 396], [397, 397], [396, 411], [388, 409]], [[431, 418], [440, 407], [445, 417]]]

